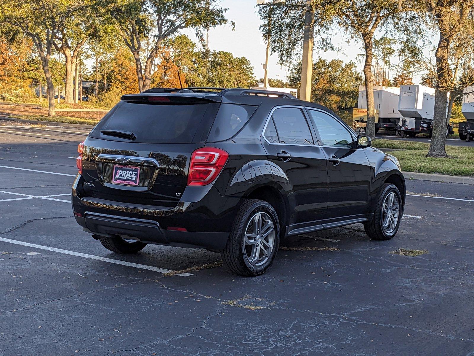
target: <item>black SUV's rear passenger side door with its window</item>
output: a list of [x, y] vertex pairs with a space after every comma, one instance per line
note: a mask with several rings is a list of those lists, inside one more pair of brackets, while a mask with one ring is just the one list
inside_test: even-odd
[[290, 223], [324, 218], [328, 190], [326, 157], [314, 145], [307, 118], [300, 107], [276, 107], [264, 129], [263, 145], [276, 182], [288, 193], [295, 210]]

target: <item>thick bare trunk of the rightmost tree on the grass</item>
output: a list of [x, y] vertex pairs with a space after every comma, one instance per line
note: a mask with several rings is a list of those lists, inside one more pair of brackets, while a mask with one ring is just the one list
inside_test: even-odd
[[435, 110], [433, 114], [433, 133], [427, 154], [428, 157], [447, 157], [445, 149], [447, 93], [453, 75], [448, 62], [449, 45], [450, 40], [440, 31], [438, 48], [436, 49], [437, 81]]

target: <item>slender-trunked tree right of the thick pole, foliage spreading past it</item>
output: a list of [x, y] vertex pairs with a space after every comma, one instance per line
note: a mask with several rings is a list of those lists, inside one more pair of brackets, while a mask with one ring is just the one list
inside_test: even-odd
[[[260, 27], [264, 37], [270, 38], [272, 51], [281, 61], [288, 61], [301, 48], [305, 14], [304, 0], [285, 0], [262, 6], [258, 10], [264, 24], [271, 21], [271, 30], [266, 25]], [[405, 11], [403, 0], [327, 0], [313, 1], [315, 32], [319, 45], [332, 48], [330, 37], [323, 36], [333, 25], [343, 28], [346, 33], [364, 44], [364, 76], [367, 92], [367, 134], [375, 135], [374, 77], [372, 75], [373, 41], [375, 31], [387, 26]]]

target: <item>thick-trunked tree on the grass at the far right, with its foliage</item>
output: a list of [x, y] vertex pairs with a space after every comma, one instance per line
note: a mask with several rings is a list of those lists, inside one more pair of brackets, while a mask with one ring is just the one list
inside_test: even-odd
[[453, 89], [453, 70], [449, 63], [453, 40], [473, 21], [474, 0], [427, 0], [424, 2], [428, 17], [439, 32], [436, 48], [436, 91], [433, 114], [433, 134], [428, 157], [447, 157], [447, 96]]

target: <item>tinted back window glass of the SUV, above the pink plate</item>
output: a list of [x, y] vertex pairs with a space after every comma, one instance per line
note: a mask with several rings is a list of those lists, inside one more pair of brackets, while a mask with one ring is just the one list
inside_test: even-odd
[[131, 131], [133, 142], [190, 143], [198, 131], [209, 103], [151, 104], [120, 101], [91, 132], [93, 138], [123, 141], [100, 130]]

